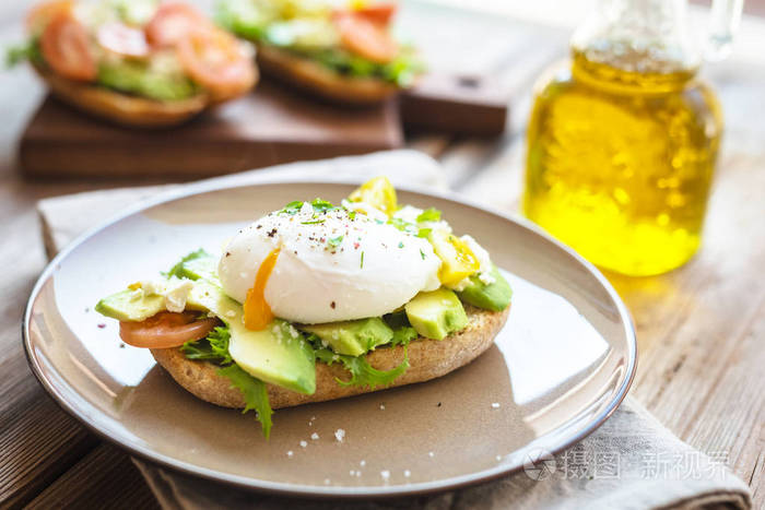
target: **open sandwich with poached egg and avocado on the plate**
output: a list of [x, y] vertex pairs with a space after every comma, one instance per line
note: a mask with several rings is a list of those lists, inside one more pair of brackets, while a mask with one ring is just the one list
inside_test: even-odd
[[220, 257], [184, 257], [96, 310], [198, 398], [255, 410], [444, 376], [486, 351], [511, 290], [435, 209], [399, 207], [386, 178], [340, 205], [291, 202]]

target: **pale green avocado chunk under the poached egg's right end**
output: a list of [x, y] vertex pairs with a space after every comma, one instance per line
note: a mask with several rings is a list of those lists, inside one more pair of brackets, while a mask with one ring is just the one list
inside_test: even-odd
[[417, 294], [404, 310], [414, 330], [426, 339], [443, 340], [468, 325], [468, 315], [457, 295], [444, 287]]

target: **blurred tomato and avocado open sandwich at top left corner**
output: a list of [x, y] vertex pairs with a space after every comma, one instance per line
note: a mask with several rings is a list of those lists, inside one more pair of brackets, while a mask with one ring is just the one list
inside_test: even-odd
[[177, 124], [258, 80], [252, 46], [180, 2], [51, 0], [26, 27], [13, 59], [57, 97], [122, 124]]

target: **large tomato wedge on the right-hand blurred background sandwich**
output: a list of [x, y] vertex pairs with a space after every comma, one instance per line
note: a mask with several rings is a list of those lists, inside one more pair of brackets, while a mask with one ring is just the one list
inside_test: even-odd
[[340, 43], [346, 50], [373, 62], [388, 63], [399, 51], [385, 27], [356, 13], [336, 14], [334, 25], [340, 32]]

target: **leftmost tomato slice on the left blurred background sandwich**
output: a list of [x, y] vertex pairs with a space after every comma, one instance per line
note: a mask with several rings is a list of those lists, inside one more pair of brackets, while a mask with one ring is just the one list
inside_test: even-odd
[[56, 14], [43, 31], [40, 50], [50, 68], [63, 78], [93, 81], [96, 63], [87, 31], [71, 14]]

